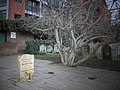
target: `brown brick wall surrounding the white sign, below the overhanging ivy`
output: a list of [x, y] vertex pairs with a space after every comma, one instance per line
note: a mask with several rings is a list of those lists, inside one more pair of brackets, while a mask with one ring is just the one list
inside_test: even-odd
[[0, 44], [0, 56], [23, 53], [27, 40], [34, 39], [30, 33], [16, 32], [16, 38], [11, 38], [11, 32], [7, 32], [6, 42]]

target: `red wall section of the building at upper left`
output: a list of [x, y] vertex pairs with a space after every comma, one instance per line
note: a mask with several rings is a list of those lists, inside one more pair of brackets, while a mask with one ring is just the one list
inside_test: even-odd
[[22, 2], [16, 2], [16, 0], [9, 0], [8, 6], [8, 19], [14, 19], [14, 15], [21, 15], [21, 18], [25, 17], [25, 2], [26, 0], [21, 0]]

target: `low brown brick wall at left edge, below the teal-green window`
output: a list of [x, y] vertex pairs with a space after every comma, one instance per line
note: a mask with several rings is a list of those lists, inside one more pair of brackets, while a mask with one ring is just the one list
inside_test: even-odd
[[0, 44], [0, 56], [17, 54], [18, 52], [17, 43], [4, 43]]

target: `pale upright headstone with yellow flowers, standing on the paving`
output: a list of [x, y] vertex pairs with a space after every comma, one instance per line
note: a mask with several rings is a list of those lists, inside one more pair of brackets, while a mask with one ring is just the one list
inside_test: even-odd
[[18, 57], [20, 82], [30, 81], [34, 76], [34, 55], [24, 54]]

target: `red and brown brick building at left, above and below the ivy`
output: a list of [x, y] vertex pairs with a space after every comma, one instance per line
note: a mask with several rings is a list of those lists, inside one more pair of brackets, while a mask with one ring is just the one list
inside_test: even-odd
[[[39, 0], [0, 0], [0, 18], [2, 20], [23, 19], [27, 16], [39, 17], [39, 12]], [[34, 35], [31, 33], [0, 28], [0, 55], [24, 52], [25, 42], [31, 39], [34, 39]]]

